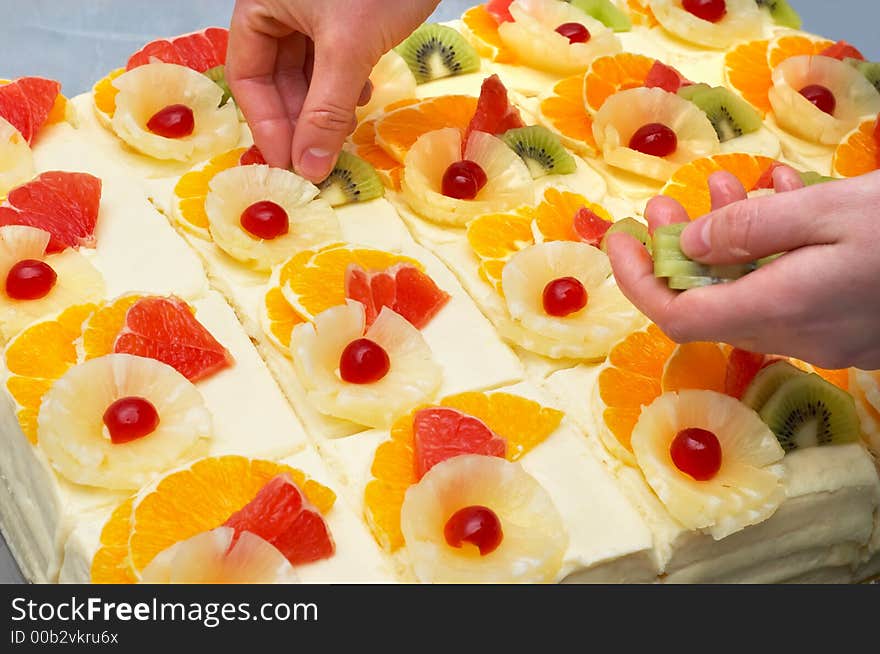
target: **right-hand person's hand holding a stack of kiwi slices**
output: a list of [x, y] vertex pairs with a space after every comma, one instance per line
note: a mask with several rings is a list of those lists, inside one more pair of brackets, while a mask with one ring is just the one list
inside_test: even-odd
[[[777, 194], [746, 200], [739, 180], [713, 175], [712, 212], [684, 231], [681, 244], [706, 264], [787, 254], [736, 282], [677, 293], [654, 277], [641, 243], [614, 234], [621, 290], [680, 343], [725, 342], [824, 368], [880, 368], [880, 172], [805, 189], [790, 168], [773, 176]], [[646, 216], [652, 232], [689, 220], [662, 196]]]

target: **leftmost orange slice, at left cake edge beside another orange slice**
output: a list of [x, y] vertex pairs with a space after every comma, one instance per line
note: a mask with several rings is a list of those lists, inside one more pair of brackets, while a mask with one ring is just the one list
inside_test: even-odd
[[18, 422], [31, 443], [37, 442], [37, 415], [43, 395], [79, 363], [77, 341], [83, 322], [96, 308], [93, 304], [70, 307], [55, 320], [27, 328], [6, 349], [10, 373], [6, 388], [17, 404]]

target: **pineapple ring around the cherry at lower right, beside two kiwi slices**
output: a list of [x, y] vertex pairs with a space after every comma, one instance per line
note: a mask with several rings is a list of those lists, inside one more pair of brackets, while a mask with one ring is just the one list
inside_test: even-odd
[[[721, 469], [696, 481], [672, 462], [672, 441], [683, 429], [707, 429], [721, 444]], [[666, 393], [642, 410], [632, 432], [636, 461], [672, 516], [688, 529], [720, 540], [769, 518], [785, 499], [785, 452], [758, 414], [714, 391]]]

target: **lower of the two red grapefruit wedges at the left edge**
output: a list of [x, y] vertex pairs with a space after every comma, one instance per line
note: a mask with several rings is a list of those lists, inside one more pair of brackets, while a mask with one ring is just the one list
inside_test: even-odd
[[51, 234], [47, 253], [94, 247], [101, 180], [86, 173], [46, 172], [9, 193], [0, 226], [26, 225]]

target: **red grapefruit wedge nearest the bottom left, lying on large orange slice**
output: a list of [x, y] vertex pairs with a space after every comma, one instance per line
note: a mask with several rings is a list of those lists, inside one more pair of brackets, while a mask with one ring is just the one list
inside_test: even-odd
[[250, 532], [274, 545], [292, 565], [329, 558], [336, 549], [324, 518], [286, 474], [273, 478], [224, 526], [235, 530], [233, 546]]

